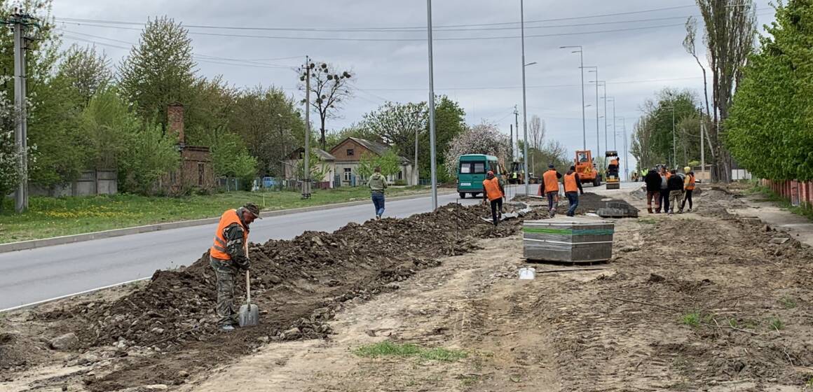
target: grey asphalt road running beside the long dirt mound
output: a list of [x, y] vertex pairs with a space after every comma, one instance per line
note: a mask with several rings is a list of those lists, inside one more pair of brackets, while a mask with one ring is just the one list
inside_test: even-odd
[[[632, 189], [634, 184], [624, 183], [622, 190]], [[537, 187], [530, 185], [530, 191], [536, 194]], [[603, 186], [595, 191], [606, 192]], [[517, 192], [524, 193], [524, 186], [510, 187], [506, 193], [513, 196]], [[585, 192], [593, 192], [593, 188], [585, 187]], [[459, 200], [456, 194], [438, 197], [440, 205], [477, 201]], [[424, 213], [430, 204], [428, 196], [391, 201], [385, 216]], [[374, 216], [371, 203], [264, 218], [252, 224], [250, 241], [292, 239], [306, 230], [333, 231]], [[214, 230], [215, 225], [193, 226], [0, 253], [0, 310], [149, 278], [156, 269], [189, 265], [207, 252]]]

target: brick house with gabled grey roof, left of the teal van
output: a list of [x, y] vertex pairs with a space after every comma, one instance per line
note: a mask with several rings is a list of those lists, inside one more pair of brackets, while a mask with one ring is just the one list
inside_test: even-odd
[[[341, 176], [341, 185], [350, 186], [353, 183], [353, 179], [359, 176], [357, 171], [359, 160], [364, 154], [370, 153], [376, 157], [380, 157], [389, 149], [390, 147], [387, 144], [359, 139], [358, 137], [348, 137], [342, 140], [341, 143], [330, 150], [330, 155], [336, 158], [336, 174]], [[387, 180], [390, 183], [404, 181], [406, 185], [415, 185], [415, 179], [413, 178], [414, 166], [412, 162], [405, 157], [399, 158], [401, 161], [400, 170], [396, 174], [389, 175]], [[363, 179], [357, 179], [356, 185], [359, 184], [359, 180]]]

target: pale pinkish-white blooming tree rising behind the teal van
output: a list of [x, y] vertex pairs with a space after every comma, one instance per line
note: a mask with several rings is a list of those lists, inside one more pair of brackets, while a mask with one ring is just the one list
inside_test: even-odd
[[497, 157], [505, 162], [508, 151], [511, 149], [508, 136], [500, 133], [496, 125], [481, 123], [468, 128], [455, 136], [446, 152], [446, 171], [452, 177], [457, 177], [458, 161], [465, 154], [486, 154]]

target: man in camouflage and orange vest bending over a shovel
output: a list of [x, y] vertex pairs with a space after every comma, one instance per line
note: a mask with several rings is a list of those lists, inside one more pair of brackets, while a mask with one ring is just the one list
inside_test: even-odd
[[234, 308], [234, 279], [238, 272], [247, 271], [251, 262], [246, 255], [249, 225], [259, 218], [259, 207], [247, 203], [239, 209], [229, 209], [220, 216], [215, 240], [209, 248], [209, 265], [217, 277], [217, 306], [221, 330], [234, 330], [237, 312]]

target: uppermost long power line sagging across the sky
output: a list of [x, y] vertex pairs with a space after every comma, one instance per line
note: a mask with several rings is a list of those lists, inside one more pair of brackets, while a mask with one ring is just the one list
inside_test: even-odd
[[[649, 10], [639, 10], [639, 11], [625, 11], [625, 12], [615, 12], [611, 14], [598, 14], [598, 15], [583, 15], [583, 16], [571, 16], [565, 18], [553, 18], [553, 19], [536, 19], [536, 20], [526, 20], [526, 24], [534, 24], [534, 23], [544, 23], [544, 22], [558, 22], [563, 20], [578, 20], [578, 19], [594, 19], [594, 18], [606, 18], [609, 16], [620, 16], [620, 15], [637, 15], [637, 14], [646, 14], [649, 12], [657, 12], [657, 11], [673, 11], [683, 8], [692, 8], [695, 5], [686, 5], [686, 6], [668, 6], [663, 8], [653, 8]], [[129, 25], [144, 25], [141, 22], [133, 22], [133, 21], [121, 21], [121, 20], [109, 20], [109, 19], [80, 19], [80, 18], [54, 18], [58, 21], [70, 21], [70, 22], [90, 22], [90, 23], [103, 23], [103, 24], [129, 24]], [[488, 24], [447, 24], [442, 26], [433, 26], [433, 30], [440, 31], [444, 28], [463, 28], [463, 27], [482, 27], [482, 26], [504, 26], [504, 25], [514, 25], [520, 24], [520, 22], [498, 22], [498, 23], [488, 23]], [[244, 27], [244, 26], [215, 26], [215, 25], [207, 25], [207, 24], [185, 24], [185, 28], [220, 28], [220, 29], [230, 29], [230, 30], [258, 30], [258, 31], [298, 31], [298, 32], [366, 32], [366, 31], [398, 31], [398, 30], [414, 30], [419, 32], [426, 31], [426, 26], [406, 26], [406, 27], [383, 27], [383, 28], [267, 28], [267, 27]], [[526, 27], [527, 28], [527, 27]]]

